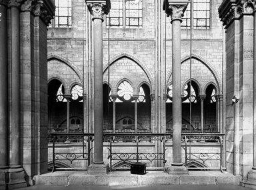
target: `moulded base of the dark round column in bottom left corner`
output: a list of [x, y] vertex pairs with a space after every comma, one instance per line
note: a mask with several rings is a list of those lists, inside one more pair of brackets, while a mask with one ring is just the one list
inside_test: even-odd
[[9, 169], [9, 189], [18, 189], [21, 187], [27, 187], [27, 182], [25, 181], [25, 171], [20, 166], [11, 166]]

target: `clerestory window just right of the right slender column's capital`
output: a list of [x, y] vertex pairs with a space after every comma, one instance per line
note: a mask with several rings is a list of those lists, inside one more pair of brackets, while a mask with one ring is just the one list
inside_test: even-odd
[[[193, 29], [210, 29], [210, 5], [211, 0], [193, 1]], [[187, 5], [181, 28], [190, 29], [191, 5]]]

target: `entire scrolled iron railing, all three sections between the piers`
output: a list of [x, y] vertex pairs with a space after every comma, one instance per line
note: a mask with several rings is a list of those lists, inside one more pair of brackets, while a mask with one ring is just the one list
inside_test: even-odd
[[[189, 170], [223, 171], [224, 134], [182, 133], [181, 136], [184, 165]], [[58, 161], [70, 165], [74, 161], [86, 161], [83, 169], [87, 169], [93, 160], [93, 137], [93, 133], [49, 133], [49, 143], [53, 147], [52, 171], [57, 169]], [[167, 160], [171, 161], [171, 140], [172, 133], [103, 133], [105, 146], [108, 143], [105, 161], [109, 160], [110, 171], [122, 169], [122, 166], [127, 169], [136, 162], [163, 170]]]

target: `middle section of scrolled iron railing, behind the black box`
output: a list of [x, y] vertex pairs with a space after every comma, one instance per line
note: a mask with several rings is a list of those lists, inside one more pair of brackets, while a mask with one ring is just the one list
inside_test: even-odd
[[[119, 163], [121, 165], [130, 165], [133, 162], [143, 161], [145, 163], [153, 163], [153, 161], [162, 161], [163, 165], [166, 163], [165, 159], [165, 143], [168, 139], [171, 139], [171, 134], [164, 133], [115, 133], [115, 134], [105, 134], [104, 140], [109, 143], [109, 168], [110, 171], [115, 168], [113, 165]], [[147, 151], [145, 143], [155, 143], [159, 142], [161, 151]], [[116, 143], [131, 143], [129, 151], [124, 151], [124, 149], [114, 148]], [[133, 149], [131, 148], [133, 147]], [[127, 169], [127, 167], [123, 168]], [[163, 167], [161, 167], [163, 170]]]

